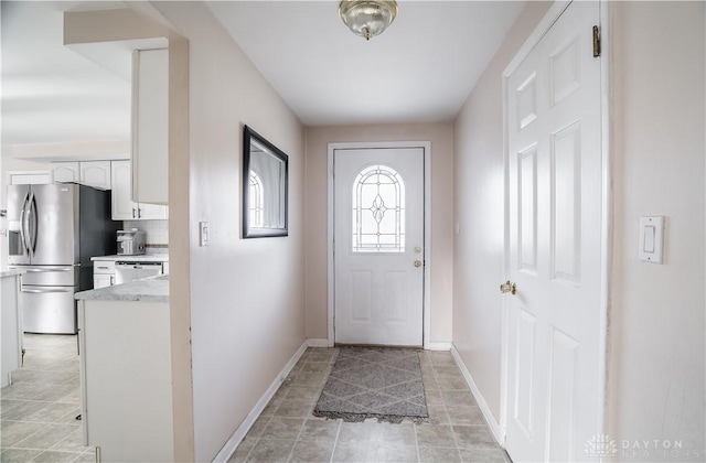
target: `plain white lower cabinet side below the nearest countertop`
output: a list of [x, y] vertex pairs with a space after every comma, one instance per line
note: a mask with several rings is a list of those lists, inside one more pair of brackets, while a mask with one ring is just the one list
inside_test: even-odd
[[104, 462], [174, 460], [169, 302], [78, 301], [84, 441]]

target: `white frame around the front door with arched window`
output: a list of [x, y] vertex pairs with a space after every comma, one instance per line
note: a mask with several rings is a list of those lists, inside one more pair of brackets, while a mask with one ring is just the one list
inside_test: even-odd
[[393, 149], [393, 148], [421, 148], [424, 150], [424, 348], [429, 348], [429, 326], [431, 313], [431, 142], [429, 141], [373, 141], [373, 142], [346, 142], [329, 143], [328, 164], [328, 342], [329, 347], [335, 344], [334, 315], [335, 315], [335, 267], [333, 258], [333, 152], [335, 150], [365, 150], [365, 149]]

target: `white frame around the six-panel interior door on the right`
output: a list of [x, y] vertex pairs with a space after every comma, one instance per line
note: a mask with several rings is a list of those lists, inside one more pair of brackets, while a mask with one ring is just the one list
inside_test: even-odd
[[[517, 54], [510, 62], [505, 71], [503, 71], [503, 157], [504, 157], [504, 261], [503, 272], [505, 276], [510, 274], [510, 147], [509, 147], [509, 117], [507, 117], [507, 79], [513, 72], [520, 67], [522, 62], [527, 57], [530, 52], [539, 43], [544, 35], [549, 31], [552, 25], [561, 15], [564, 10], [571, 3], [571, 0], [557, 0], [547, 10], [544, 18], [537, 23], [532, 34], [527, 37], [525, 43], [520, 47]], [[601, 41], [601, 76], [600, 76], [600, 91], [601, 91], [601, 266], [600, 266], [600, 358], [599, 367], [600, 375], [598, 381], [600, 385], [600, 403], [606, 405], [608, 398], [608, 311], [610, 310], [610, 274], [611, 274], [611, 248], [612, 248], [612, 155], [611, 155], [611, 106], [610, 106], [610, 73], [612, 57], [610, 56], [610, 21], [608, 14], [608, 2], [600, 0], [600, 41]], [[502, 302], [502, 330], [501, 330], [501, 378], [500, 378], [500, 428], [502, 435], [496, 435], [500, 443], [505, 446], [506, 429], [507, 429], [507, 342], [509, 342], [509, 305], [507, 298], [503, 298]], [[608, 429], [607, 422], [607, 409], [599, 410], [599, 422], [601, 429], [597, 432], [605, 434]]]

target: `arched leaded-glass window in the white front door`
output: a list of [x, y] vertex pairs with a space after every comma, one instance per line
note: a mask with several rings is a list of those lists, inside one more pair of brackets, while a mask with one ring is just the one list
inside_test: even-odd
[[371, 165], [353, 182], [353, 252], [405, 251], [405, 183], [392, 168]]

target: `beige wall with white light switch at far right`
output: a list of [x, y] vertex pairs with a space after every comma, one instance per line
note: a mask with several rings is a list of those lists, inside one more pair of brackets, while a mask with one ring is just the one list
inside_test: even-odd
[[[614, 2], [609, 432], [681, 440], [704, 461], [705, 3]], [[638, 260], [666, 217], [664, 265]], [[621, 460], [627, 456], [621, 455]], [[661, 453], [637, 460], [673, 460]], [[667, 455], [668, 456], [668, 455]]]

